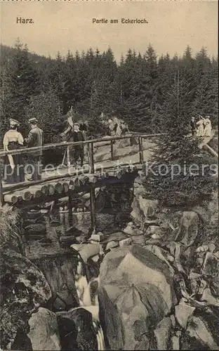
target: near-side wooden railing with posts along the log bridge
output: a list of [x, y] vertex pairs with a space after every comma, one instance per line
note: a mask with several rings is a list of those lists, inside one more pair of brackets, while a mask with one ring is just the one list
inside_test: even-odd
[[[6, 157], [8, 155], [14, 155], [14, 154], [31, 154], [32, 152], [44, 152], [45, 150], [55, 150], [58, 147], [74, 147], [77, 145], [87, 145], [88, 146], [88, 166], [89, 166], [89, 172], [94, 173], [95, 171], [95, 161], [94, 161], [94, 144], [102, 143], [102, 142], [110, 142], [110, 159], [114, 160], [114, 141], [115, 140], [124, 140], [124, 139], [131, 139], [135, 138], [138, 139], [138, 153], [139, 153], [139, 162], [135, 162], [135, 164], [143, 164], [144, 162], [144, 154], [143, 154], [143, 139], [145, 138], [154, 138], [154, 137], [159, 137], [160, 135], [164, 135], [164, 133], [157, 133], [157, 134], [129, 134], [129, 135], [122, 135], [122, 136], [114, 136], [114, 137], [107, 137], [107, 138], [98, 138], [98, 139], [91, 139], [91, 140], [85, 140], [85, 141], [78, 141], [78, 142], [62, 142], [62, 143], [53, 143], [53, 144], [47, 144], [43, 145], [41, 147], [22, 147], [18, 150], [10, 150], [8, 152], [6, 151], [0, 151], [0, 158]], [[109, 166], [105, 167], [109, 168]], [[74, 174], [74, 173], [73, 173]], [[41, 184], [48, 182], [50, 180], [58, 180], [60, 178], [67, 178], [69, 176], [73, 175], [72, 173], [66, 173], [62, 175], [56, 175], [56, 176], [51, 176], [46, 179], [42, 180], [35, 180], [35, 181], [26, 181], [23, 183], [17, 183], [17, 184], [12, 184], [12, 185], [6, 185], [3, 187], [2, 183], [2, 172], [0, 171], [0, 203], [1, 205], [4, 202], [4, 193], [5, 192], [11, 192], [13, 190], [19, 190], [23, 187], [29, 187], [31, 185], [36, 185], [36, 184]]]

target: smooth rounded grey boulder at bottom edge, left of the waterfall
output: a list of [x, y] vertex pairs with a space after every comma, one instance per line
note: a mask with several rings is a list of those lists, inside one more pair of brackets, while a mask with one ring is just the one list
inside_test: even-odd
[[27, 336], [32, 344], [32, 350], [61, 350], [58, 321], [55, 313], [46, 308], [32, 314], [29, 319]]

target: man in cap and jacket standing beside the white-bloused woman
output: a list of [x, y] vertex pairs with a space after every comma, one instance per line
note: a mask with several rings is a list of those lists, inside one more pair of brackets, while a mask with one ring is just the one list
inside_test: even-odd
[[[44, 132], [37, 126], [37, 119], [35, 117], [28, 120], [30, 131], [25, 138], [27, 147], [39, 147], [43, 145]], [[32, 164], [32, 179], [41, 180], [41, 156], [42, 150], [29, 153], [29, 161]]]

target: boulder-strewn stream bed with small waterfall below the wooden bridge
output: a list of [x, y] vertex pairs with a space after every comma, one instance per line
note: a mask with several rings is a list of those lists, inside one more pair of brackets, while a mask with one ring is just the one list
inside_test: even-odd
[[219, 350], [217, 195], [159, 208], [142, 181], [90, 239], [88, 213], [1, 214], [2, 349]]

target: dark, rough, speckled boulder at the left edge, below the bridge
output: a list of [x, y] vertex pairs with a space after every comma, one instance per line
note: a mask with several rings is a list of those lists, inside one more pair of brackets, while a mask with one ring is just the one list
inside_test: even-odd
[[30, 314], [51, 298], [44, 274], [20, 253], [1, 253], [1, 347], [11, 345], [17, 331], [26, 331]]

